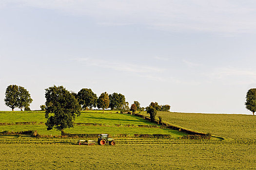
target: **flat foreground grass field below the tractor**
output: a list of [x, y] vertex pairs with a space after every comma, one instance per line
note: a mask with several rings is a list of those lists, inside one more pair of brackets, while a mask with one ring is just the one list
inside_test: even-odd
[[[19, 149], [17, 149], [19, 148]], [[256, 145], [0, 145], [0, 169], [255, 170]]]

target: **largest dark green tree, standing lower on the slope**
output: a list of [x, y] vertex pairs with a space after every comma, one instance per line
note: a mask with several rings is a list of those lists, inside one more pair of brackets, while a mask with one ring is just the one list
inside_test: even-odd
[[73, 127], [76, 116], [81, 114], [77, 99], [63, 86], [55, 85], [45, 89], [45, 98], [47, 130]]

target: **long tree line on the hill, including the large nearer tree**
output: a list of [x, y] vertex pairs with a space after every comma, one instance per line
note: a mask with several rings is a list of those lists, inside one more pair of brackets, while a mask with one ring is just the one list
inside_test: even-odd
[[[45, 125], [47, 130], [57, 129], [63, 131], [65, 128], [74, 126], [76, 117], [80, 116], [81, 110], [92, 109], [98, 107], [103, 109], [111, 108], [112, 110], [144, 110], [140, 107], [140, 103], [135, 101], [131, 108], [129, 103], [125, 102], [125, 97], [122, 94], [113, 93], [108, 95], [107, 92], [101, 93], [99, 97], [89, 88], [83, 88], [78, 93], [66, 90], [63, 86], [51, 86], [45, 89], [45, 105], [41, 105], [41, 109], [45, 109]], [[29, 92], [21, 86], [9, 85], [5, 91], [4, 102], [7, 106], [14, 108], [19, 107], [21, 110], [24, 107], [28, 110], [30, 103], [33, 100]], [[30, 109], [29, 109], [30, 110]], [[155, 120], [157, 111], [170, 110], [169, 105], [159, 106], [157, 102], [151, 102], [146, 107], [147, 113]], [[154, 116], [155, 114], [155, 116]], [[154, 118], [153, 118], [154, 116]]]

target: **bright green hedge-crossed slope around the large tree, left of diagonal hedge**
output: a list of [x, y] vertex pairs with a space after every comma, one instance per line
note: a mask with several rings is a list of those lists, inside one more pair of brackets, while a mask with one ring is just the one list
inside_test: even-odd
[[[108, 111], [110, 112], [110, 111]], [[24, 121], [45, 121], [44, 112], [0, 112], [1, 122], [24, 122]], [[67, 133], [86, 133], [100, 134], [169, 134], [173, 137], [180, 137], [186, 134], [174, 131], [172, 129], [160, 128], [141, 128], [141, 127], [113, 127], [115, 124], [133, 124], [133, 125], [155, 125], [145, 119], [141, 119], [128, 114], [116, 113], [91, 113], [82, 112], [81, 116], [76, 118], [76, 122], [102, 123], [107, 126], [75, 126], [74, 128], [65, 129]], [[8, 125], [0, 126], [0, 131], [27, 131], [37, 130], [41, 135], [60, 135], [57, 130], [47, 131], [45, 125]]]

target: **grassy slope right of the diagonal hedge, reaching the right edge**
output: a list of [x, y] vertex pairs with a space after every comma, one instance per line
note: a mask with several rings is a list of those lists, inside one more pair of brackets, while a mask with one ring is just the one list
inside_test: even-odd
[[256, 116], [158, 112], [163, 120], [198, 132], [237, 140], [256, 140]]

